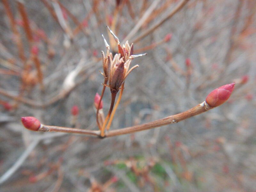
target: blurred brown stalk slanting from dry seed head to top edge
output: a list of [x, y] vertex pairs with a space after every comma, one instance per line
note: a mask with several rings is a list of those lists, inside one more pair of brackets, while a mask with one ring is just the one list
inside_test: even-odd
[[[161, 26], [165, 21], [170, 19], [176, 12], [180, 11], [182, 7], [184, 7], [185, 4], [188, 3], [189, 0], [183, 0], [181, 1], [173, 10], [170, 12], [169, 15], [167, 15], [165, 18], [160, 20], [158, 23], [156, 23], [154, 26], [149, 28], [148, 30], [144, 31], [140, 36], [138, 36], [136, 39], [132, 40], [133, 43], [138, 42], [140, 39], [144, 38], [148, 34], [152, 33], [155, 29], [157, 29], [159, 26]], [[126, 38], [125, 38], [126, 39]]]

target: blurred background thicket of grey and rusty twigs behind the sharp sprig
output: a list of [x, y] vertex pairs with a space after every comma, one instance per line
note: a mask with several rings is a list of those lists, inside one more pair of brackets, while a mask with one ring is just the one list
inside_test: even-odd
[[[154, 2], [0, 3], [0, 176], [34, 146], [0, 191], [255, 191], [256, 2], [190, 0], [141, 38], [181, 0]], [[140, 67], [125, 81], [110, 129], [183, 112], [234, 81], [235, 91], [204, 114], [131, 135], [100, 140], [26, 130], [21, 116], [70, 127], [73, 105], [76, 126], [97, 130], [101, 34], [117, 51], [106, 25], [120, 41], [132, 31], [134, 52], [148, 53], [133, 60]], [[107, 88], [105, 114], [110, 101]]]

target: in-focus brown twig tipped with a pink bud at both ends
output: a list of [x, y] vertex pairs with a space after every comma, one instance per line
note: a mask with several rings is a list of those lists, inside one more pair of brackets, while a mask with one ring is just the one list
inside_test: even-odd
[[200, 113], [204, 113], [205, 111], [218, 107], [224, 102], [226, 102], [230, 97], [231, 93], [233, 92], [234, 86], [235, 86], [235, 83], [226, 84], [213, 90], [211, 93], [208, 94], [208, 96], [206, 97], [206, 100], [203, 103], [198, 104], [195, 107], [188, 109], [185, 112], [168, 116], [163, 119], [159, 119], [159, 120], [141, 124], [141, 125], [135, 125], [132, 127], [126, 127], [123, 129], [108, 131], [106, 132], [104, 137], [101, 136], [100, 131], [43, 125], [35, 117], [21, 117], [21, 122], [24, 125], [24, 127], [26, 127], [31, 131], [76, 133], [76, 134], [84, 134], [88, 136], [98, 136], [100, 138], [114, 137], [117, 135], [125, 135], [125, 134], [134, 133], [134, 132], [153, 129], [156, 127], [161, 127], [168, 124], [178, 123], [180, 121], [188, 119], [189, 117], [196, 116]]

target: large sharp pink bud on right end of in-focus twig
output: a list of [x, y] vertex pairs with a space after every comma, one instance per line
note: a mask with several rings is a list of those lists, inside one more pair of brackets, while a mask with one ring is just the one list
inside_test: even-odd
[[214, 89], [207, 95], [205, 102], [211, 107], [218, 107], [225, 103], [233, 92], [235, 84], [236, 83], [226, 84]]

